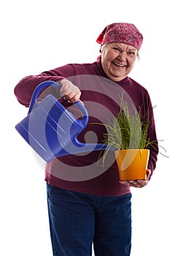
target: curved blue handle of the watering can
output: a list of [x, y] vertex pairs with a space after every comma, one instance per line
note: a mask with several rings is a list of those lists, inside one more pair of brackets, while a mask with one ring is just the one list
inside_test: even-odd
[[[38, 86], [36, 86], [36, 89], [34, 89], [33, 96], [31, 98], [28, 114], [31, 112], [34, 105], [36, 104], [36, 99], [38, 98], [40, 92], [49, 86], [55, 86], [58, 90], [61, 89], [61, 84], [54, 82], [52, 80], [47, 80], [45, 82], [40, 83]], [[83, 116], [82, 116], [81, 122], [84, 126], [86, 126], [88, 124], [88, 111], [86, 110], [86, 108], [82, 105], [82, 103], [79, 100], [77, 102], [74, 102], [74, 105], [77, 105], [77, 107], [82, 112]]]

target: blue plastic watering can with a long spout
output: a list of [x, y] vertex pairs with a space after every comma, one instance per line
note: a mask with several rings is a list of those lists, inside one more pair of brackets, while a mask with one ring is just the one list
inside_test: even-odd
[[106, 149], [107, 144], [81, 143], [77, 139], [88, 124], [88, 112], [80, 101], [74, 105], [82, 113], [81, 120], [66, 110], [52, 94], [37, 102], [39, 93], [48, 86], [61, 89], [59, 83], [51, 80], [40, 83], [34, 90], [28, 115], [15, 126], [31, 148], [46, 162], [55, 157]]

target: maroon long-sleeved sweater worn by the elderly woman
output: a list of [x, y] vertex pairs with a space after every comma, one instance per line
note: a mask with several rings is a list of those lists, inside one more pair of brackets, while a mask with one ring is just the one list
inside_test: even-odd
[[[101, 67], [101, 60], [91, 64], [67, 64], [40, 75], [30, 75], [20, 80], [15, 86], [15, 96], [18, 101], [29, 106], [34, 89], [45, 80], [59, 82], [63, 78], [71, 80], [80, 87], [80, 99], [85, 102], [89, 114], [89, 123], [78, 139], [84, 143], [101, 143], [106, 129], [94, 123], [106, 123], [108, 118], [115, 116], [120, 109], [120, 96], [139, 110], [142, 116], [150, 111], [150, 129], [148, 138], [157, 141], [155, 121], [152, 113], [150, 96], [144, 87], [129, 77], [120, 82], [113, 82], [107, 78]], [[55, 91], [53, 91], [55, 94]], [[68, 102], [62, 100], [66, 108]], [[73, 110], [75, 113], [77, 110]], [[142, 120], [144, 121], [144, 120]], [[93, 123], [93, 124], [92, 124]], [[95, 135], [94, 135], [95, 134]], [[158, 146], [150, 148], [148, 168], [153, 172], [157, 161]], [[117, 196], [130, 192], [130, 187], [120, 184], [114, 154], [109, 151], [104, 165], [103, 151], [90, 151], [85, 154], [58, 157], [47, 163], [45, 180], [56, 187], [85, 192], [93, 195]], [[152, 176], [152, 174], [151, 174]]]

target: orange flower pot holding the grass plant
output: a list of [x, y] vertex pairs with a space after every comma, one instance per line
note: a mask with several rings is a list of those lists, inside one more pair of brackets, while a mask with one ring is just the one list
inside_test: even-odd
[[149, 149], [115, 151], [120, 181], [146, 179], [149, 155]]

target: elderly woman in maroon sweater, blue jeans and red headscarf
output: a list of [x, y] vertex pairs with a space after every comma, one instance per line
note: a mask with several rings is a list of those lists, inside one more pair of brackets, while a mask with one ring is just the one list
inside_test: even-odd
[[[119, 111], [120, 94], [128, 96], [136, 108], [150, 111], [148, 137], [157, 141], [150, 96], [128, 77], [134, 67], [142, 34], [131, 23], [112, 23], [99, 35], [97, 61], [66, 64], [39, 75], [30, 75], [15, 86], [18, 101], [29, 106], [34, 89], [45, 80], [61, 83], [61, 102], [66, 108], [80, 99], [89, 113], [89, 124], [80, 134], [82, 142], [102, 142], [106, 132], [98, 121]], [[55, 91], [53, 91], [55, 94]], [[96, 124], [95, 124], [96, 123]], [[95, 136], [93, 135], [95, 133]], [[89, 135], [86, 136], [85, 135]], [[101, 152], [56, 157], [45, 169], [50, 235], [54, 256], [128, 256], [131, 252], [131, 190], [144, 187], [155, 170], [158, 148], [150, 148], [146, 180], [119, 181], [117, 164], [107, 157], [107, 167], [99, 162]]]

